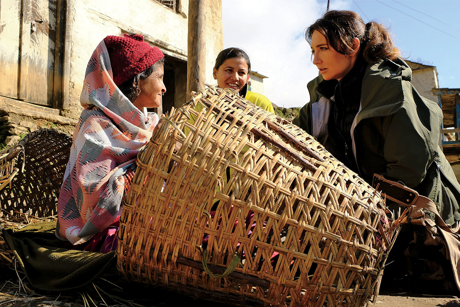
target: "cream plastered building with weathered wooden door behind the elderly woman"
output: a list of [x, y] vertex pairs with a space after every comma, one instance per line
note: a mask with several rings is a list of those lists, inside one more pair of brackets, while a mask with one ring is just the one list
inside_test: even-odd
[[[165, 53], [163, 110], [186, 102], [189, 0], [2, 0], [0, 144], [38, 127], [72, 133], [86, 64], [107, 35], [139, 33]], [[221, 0], [206, 1], [206, 80], [223, 48]]]

